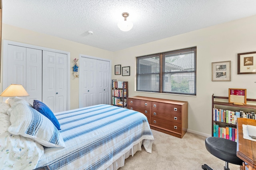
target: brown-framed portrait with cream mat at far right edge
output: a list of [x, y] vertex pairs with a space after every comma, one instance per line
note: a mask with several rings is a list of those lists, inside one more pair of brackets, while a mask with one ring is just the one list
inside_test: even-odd
[[256, 74], [256, 51], [237, 54], [237, 74]]

